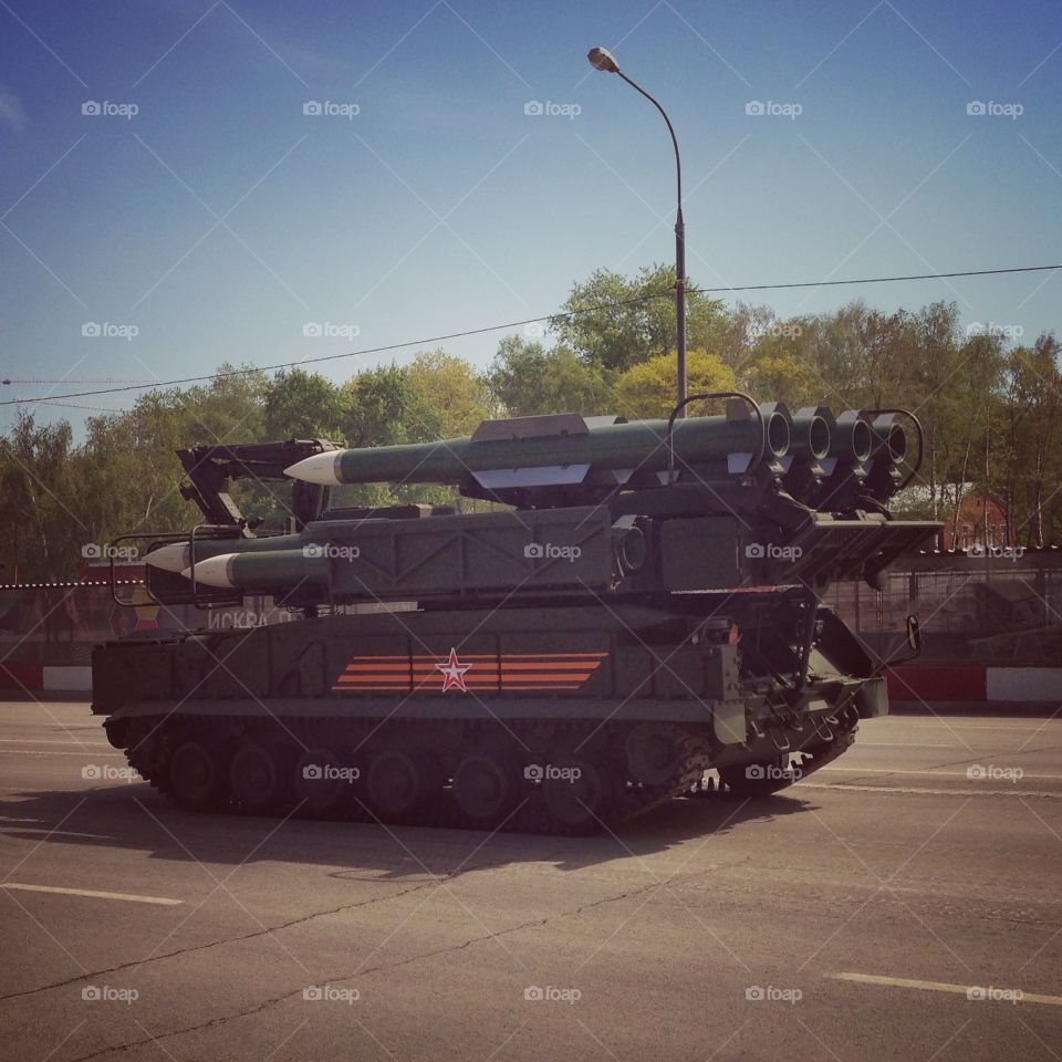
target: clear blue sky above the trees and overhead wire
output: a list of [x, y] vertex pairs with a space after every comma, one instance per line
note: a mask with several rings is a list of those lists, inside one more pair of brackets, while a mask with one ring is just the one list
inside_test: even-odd
[[[1062, 260], [1056, 2], [3, 0], [0, 376], [342, 353], [548, 313], [596, 268], [670, 260], [666, 129], [591, 70], [594, 44], [671, 116], [701, 285]], [[1029, 339], [1062, 324], [1060, 293], [1039, 273], [745, 298], [948, 299]], [[446, 347], [485, 366], [498, 339]]]

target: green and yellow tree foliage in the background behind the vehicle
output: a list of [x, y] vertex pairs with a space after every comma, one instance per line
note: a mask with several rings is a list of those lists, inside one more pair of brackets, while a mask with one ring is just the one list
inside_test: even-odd
[[[693, 285], [691, 285], [693, 287]], [[610, 305], [605, 305], [608, 303]], [[125, 532], [176, 531], [196, 520], [174, 451], [197, 444], [327, 438], [387, 446], [468, 435], [486, 417], [579, 412], [667, 416], [674, 405], [674, 271], [625, 278], [600, 270], [573, 285], [541, 336], [510, 335], [486, 369], [445, 351], [334, 382], [291, 368], [219, 367], [209, 384], [155, 391], [121, 414], [69, 424], [21, 415], [0, 437], [0, 579], [71, 577], [83, 552]], [[913, 409], [925, 429], [917, 489], [900, 511], [947, 517], [987, 491], [1012, 541], [1062, 543], [1062, 372], [1054, 336], [1013, 345], [969, 334], [956, 306], [884, 312], [853, 302], [777, 317], [688, 296], [688, 385], [739, 389], [792, 408]], [[283, 483], [238, 481], [243, 511], [280, 527]], [[343, 488], [337, 503], [447, 502], [447, 487]]]

